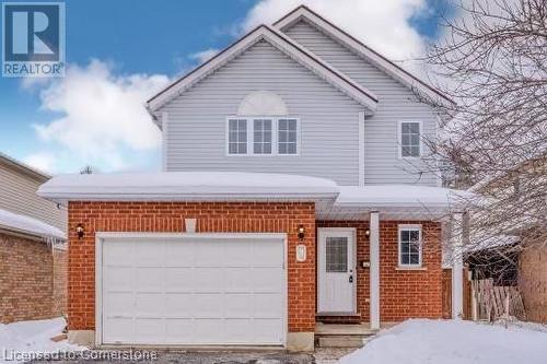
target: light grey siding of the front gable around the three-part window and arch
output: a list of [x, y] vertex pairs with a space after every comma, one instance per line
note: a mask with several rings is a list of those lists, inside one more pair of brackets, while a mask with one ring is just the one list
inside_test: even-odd
[[[278, 94], [299, 118], [300, 154], [226, 155], [226, 117], [254, 91]], [[166, 171], [240, 171], [358, 184], [358, 122], [364, 108], [265, 40], [167, 103]]]

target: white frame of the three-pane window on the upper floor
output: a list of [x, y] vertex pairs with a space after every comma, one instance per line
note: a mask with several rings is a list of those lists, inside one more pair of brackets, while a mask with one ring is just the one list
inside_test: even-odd
[[[247, 153], [245, 154], [232, 154], [230, 153], [230, 120], [238, 119], [238, 120], [247, 120]], [[257, 153], [255, 154], [255, 120], [271, 120], [271, 153], [264, 154]], [[296, 120], [296, 153], [295, 154], [279, 154], [278, 153], [278, 126], [279, 119], [292, 119]], [[269, 157], [269, 156], [281, 156], [281, 157], [291, 157], [300, 155], [300, 145], [301, 145], [301, 127], [300, 127], [300, 118], [292, 116], [229, 116], [225, 121], [225, 155], [226, 156], [258, 156], [258, 157]]]

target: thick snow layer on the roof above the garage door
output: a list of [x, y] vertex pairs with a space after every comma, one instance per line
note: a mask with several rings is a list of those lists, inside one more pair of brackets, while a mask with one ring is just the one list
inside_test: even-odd
[[335, 181], [317, 177], [242, 172], [160, 172], [60, 175], [38, 196], [68, 200], [315, 200], [335, 199]]

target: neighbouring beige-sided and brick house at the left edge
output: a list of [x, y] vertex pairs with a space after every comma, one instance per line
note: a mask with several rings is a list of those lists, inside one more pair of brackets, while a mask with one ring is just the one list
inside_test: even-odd
[[49, 178], [0, 154], [0, 322], [67, 312], [67, 210], [36, 196]]

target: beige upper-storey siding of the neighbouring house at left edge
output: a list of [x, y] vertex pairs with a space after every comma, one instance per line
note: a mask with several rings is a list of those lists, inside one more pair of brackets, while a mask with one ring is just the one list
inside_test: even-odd
[[67, 211], [57, 204], [36, 196], [39, 185], [46, 179], [37, 179], [0, 160], [0, 209], [40, 220], [67, 231]]

